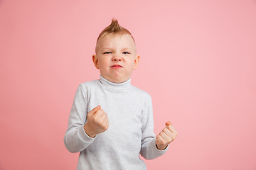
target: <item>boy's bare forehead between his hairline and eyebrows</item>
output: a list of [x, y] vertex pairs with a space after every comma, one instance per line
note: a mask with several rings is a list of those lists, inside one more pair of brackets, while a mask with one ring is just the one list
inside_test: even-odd
[[103, 38], [97, 42], [98, 50], [111, 47], [111, 48], [131, 48], [131, 50], [136, 50], [134, 39], [129, 34], [106, 34]]

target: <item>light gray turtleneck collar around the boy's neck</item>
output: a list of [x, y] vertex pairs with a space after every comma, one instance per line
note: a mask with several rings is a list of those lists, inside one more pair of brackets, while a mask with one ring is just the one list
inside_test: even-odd
[[120, 90], [120, 89], [128, 89], [131, 86], [131, 78], [128, 79], [127, 81], [124, 81], [123, 83], [113, 83], [111, 81], [108, 81], [102, 75], [100, 75], [100, 84], [103, 86], [109, 88], [109, 89], [114, 89], [114, 90]]

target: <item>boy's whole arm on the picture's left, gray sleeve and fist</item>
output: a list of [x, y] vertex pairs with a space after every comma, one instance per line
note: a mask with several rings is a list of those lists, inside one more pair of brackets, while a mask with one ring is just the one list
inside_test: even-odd
[[[109, 127], [107, 113], [97, 106], [87, 113], [87, 98], [82, 86], [78, 86], [68, 120], [64, 144], [70, 152], [81, 152], [94, 140], [95, 136]], [[87, 120], [87, 123], [85, 123]]]

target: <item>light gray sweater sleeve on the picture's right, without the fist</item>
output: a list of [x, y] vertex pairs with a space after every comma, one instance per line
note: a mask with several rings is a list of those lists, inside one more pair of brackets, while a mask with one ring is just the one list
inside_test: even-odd
[[142, 147], [140, 154], [145, 159], [156, 159], [163, 155], [169, 146], [164, 150], [156, 147], [156, 135], [154, 134], [153, 107], [151, 96], [146, 99], [145, 108], [142, 112]]

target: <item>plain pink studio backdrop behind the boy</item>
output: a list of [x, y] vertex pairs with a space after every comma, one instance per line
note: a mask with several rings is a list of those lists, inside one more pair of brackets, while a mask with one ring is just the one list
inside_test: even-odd
[[0, 1], [0, 169], [75, 169], [63, 136], [78, 84], [99, 78], [111, 18], [141, 56], [155, 132], [178, 137], [149, 170], [256, 169], [256, 1]]

